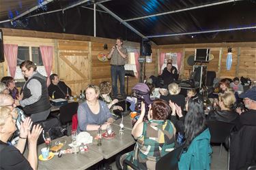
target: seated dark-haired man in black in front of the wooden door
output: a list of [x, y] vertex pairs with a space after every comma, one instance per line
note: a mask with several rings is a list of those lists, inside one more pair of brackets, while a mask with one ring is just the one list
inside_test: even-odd
[[51, 84], [48, 86], [49, 97], [54, 96], [55, 99], [66, 99], [67, 94], [71, 96], [71, 89], [64, 83], [59, 81], [57, 74], [50, 75]]

